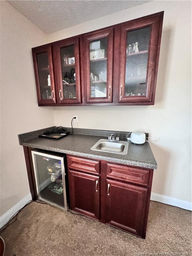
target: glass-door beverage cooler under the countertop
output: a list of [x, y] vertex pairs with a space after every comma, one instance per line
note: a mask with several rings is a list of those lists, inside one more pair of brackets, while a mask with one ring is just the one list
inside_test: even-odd
[[38, 199], [68, 210], [66, 156], [32, 150]]

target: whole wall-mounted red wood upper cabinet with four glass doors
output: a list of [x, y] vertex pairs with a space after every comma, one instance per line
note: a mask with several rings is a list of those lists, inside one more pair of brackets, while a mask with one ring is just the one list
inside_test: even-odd
[[153, 105], [163, 13], [33, 48], [39, 106]]

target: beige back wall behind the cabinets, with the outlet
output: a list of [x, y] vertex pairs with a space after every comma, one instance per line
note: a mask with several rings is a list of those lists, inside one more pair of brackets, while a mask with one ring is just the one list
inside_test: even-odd
[[[159, 138], [151, 144], [158, 163], [152, 191], [191, 200], [191, 2], [152, 1], [48, 35], [53, 42], [112, 24], [164, 12], [154, 106], [56, 107], [55, 125], [134, 131]], [[77, 127], [77, 126], [76, 126]]]

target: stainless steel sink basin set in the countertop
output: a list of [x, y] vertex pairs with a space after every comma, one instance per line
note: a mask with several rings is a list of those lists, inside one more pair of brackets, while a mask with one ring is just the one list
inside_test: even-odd
[[126, 155], [129, 143], [127, 141], [98, 140], [91, 150]]

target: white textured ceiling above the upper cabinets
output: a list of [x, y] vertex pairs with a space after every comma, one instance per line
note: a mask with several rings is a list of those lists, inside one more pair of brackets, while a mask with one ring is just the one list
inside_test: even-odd
[[7, 2], [49, 34], [149, 1], [10, 0]]

